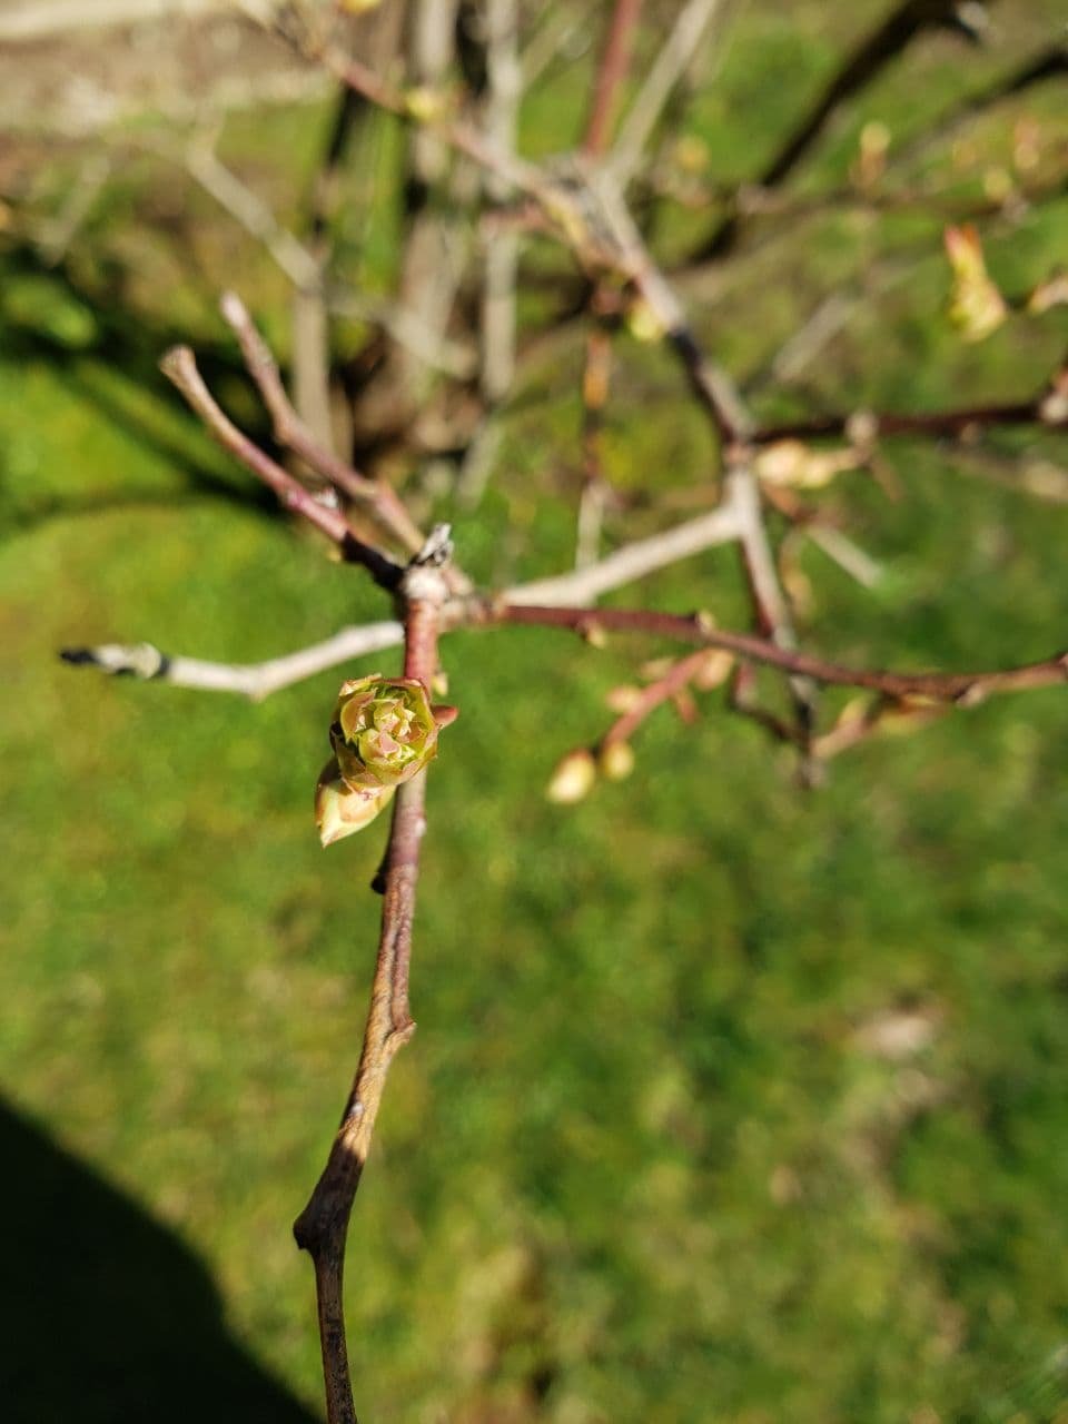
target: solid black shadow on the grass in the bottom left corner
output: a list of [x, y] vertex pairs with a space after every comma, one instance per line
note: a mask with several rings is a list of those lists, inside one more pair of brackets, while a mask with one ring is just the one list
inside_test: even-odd
[[3, 1105], [0, 1162], [6, 1424], [313, 1424], [189, 1250]]

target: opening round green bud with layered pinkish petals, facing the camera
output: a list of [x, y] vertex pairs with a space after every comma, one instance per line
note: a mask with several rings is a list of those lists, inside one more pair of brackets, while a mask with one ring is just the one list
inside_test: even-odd
[[375, 672], [342, 686], [330, 745], [345, 785], [355, 792], [399, 786], [437, 755], [437, 719], [416, 678]]

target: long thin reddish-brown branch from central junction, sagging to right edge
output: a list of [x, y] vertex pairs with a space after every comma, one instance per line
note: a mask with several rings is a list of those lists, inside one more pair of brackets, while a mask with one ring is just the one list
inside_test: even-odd
[[708, 648], [725, 648], [750, 662], [780, 668], [813, 682], [847, 688], [870, 688], [891, 698], [930, 698], [936, 702], [971, 705], [995, 692], [1027, 692], [1034, 688], [1068, 682], [1068, 652], [1042, 662], [1028, 662], [1018, 668], [984, 672], [887, 672], [870, 668], [849, 668], [840, 662], [826, 662], [805, 652], [790, 652], [766, 638], [731, 632], [713, 627], [703, 614], [661, 614], [632, 608], [541, 608], [521, 604], [490, 605], [486, 622], [535, 624], [550, 628], [570, 628], [588, 635], [591, 628], [604, 632], [644, 632], [682, 642], [699, 642]]

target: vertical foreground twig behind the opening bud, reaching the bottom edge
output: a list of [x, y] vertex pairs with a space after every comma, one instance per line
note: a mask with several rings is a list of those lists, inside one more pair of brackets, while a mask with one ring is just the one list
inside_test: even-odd
[[[430, 686], [437, 671], [437, 624], [447, 585], [434, 562], [447, 543], [431, 541], [404, 574], [404, 676]], [[397, 787], [382, 867], [382, 933], [360, 1062], [326, 1166], [293, 1223], [298, 1246], [315, 1263], [319, 1337], [329, 1424], [356, 1424], [345, 1340], [342, 1280], [349, 1216], [370, 1152], [375, 1119], [394, 1054], [414, 1032], [409, 1008], [412, 923], [419, 850], [426, 832], [426, 772]]]

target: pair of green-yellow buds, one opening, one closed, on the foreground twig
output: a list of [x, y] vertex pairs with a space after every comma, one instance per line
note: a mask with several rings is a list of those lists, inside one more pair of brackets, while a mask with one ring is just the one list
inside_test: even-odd
[[403, 782], [437, 755], [439, 729], [454, 708], [431, 706], [416, 678], [373, 672], [342, 685], [330, 722], [333, 756], [315, 789], [323, 846], [370, 824]]

